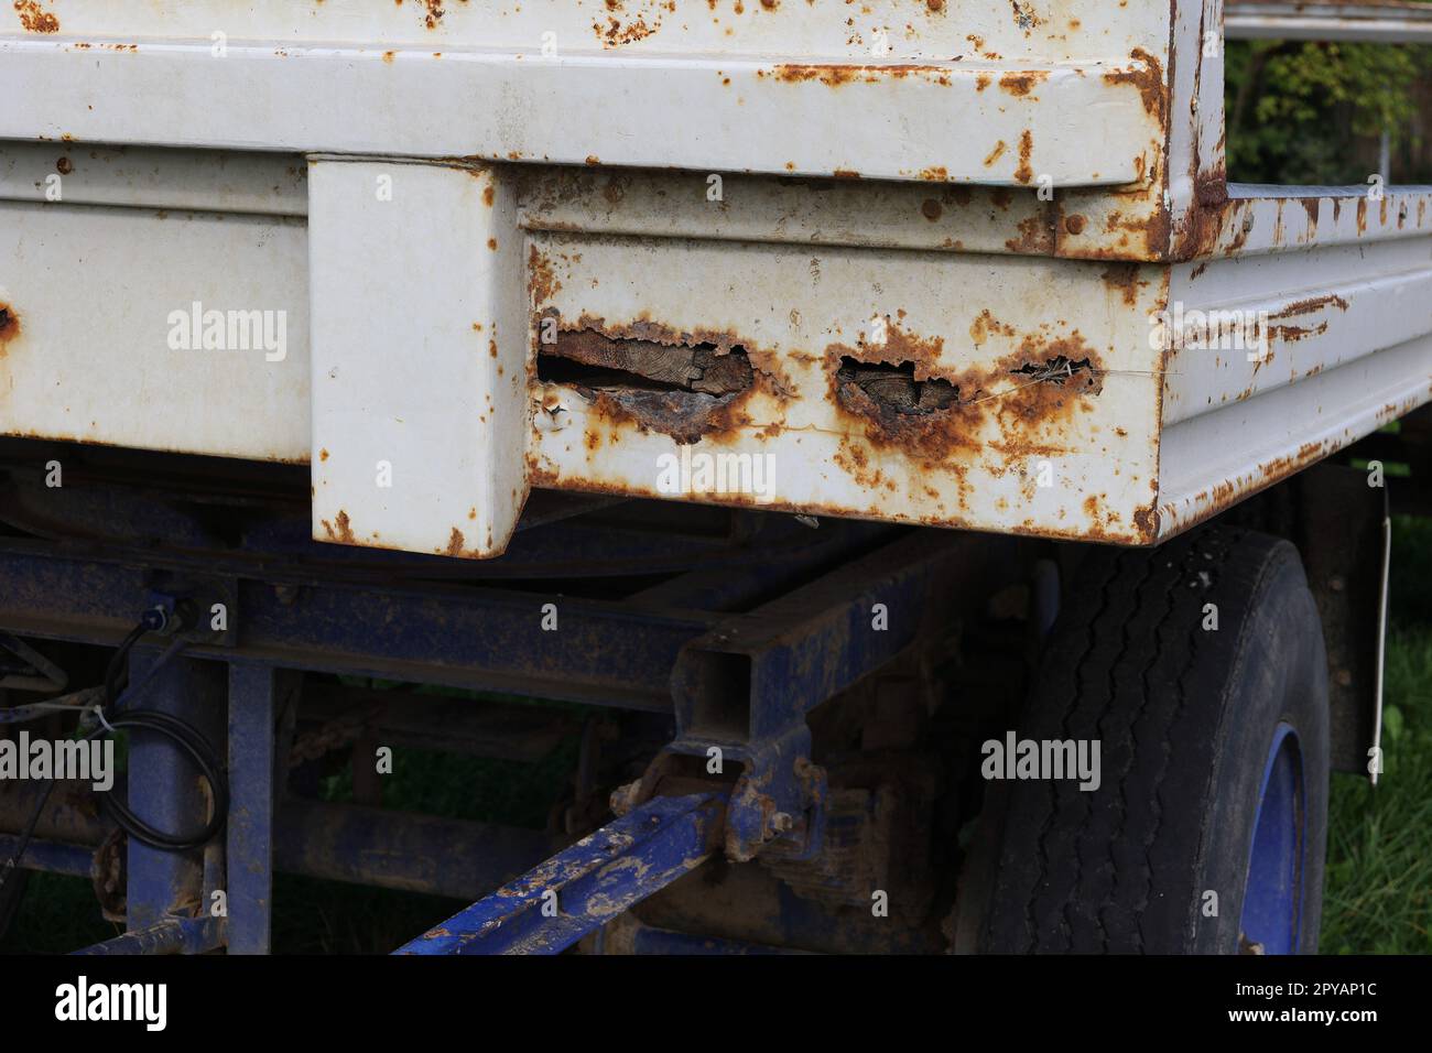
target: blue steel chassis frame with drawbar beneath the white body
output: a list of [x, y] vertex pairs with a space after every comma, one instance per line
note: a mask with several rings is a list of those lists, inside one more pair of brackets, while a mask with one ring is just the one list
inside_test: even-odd
[[[89, 503], [66, 497], [77, 501], [76, 514], [102, 510], [106, 523], [150, 514], [143, 497], [117, 489], [99, 499], [97, 489]], [[789, 524], [778, 521], [782, 530]], [[183, 537], [182, 526], [166, 521], [163, 529]], [[232, 804], [222, 844], [176, 854], [130, 841], [129, 933], [90, 951], [222, 944], [231, 953], [266, 953], [275, 862], [471, 895], [547, 854], [546, 838], [530, 831], [286, 799], [276, 779], [278, 722], [301, 670], [517, 691], [676, 721], [674, 741], [619, 794], [623, 818], [538, 868], [548, 877], [540, 888], [528, 875], [527, 885], [513, 887], [526, 893], [508, 888], [483, 900], [450, 923], [450, 937], [428, 934], [405, 951], [560, 950], [719, 850], [712, 838], [723, 838], [732, 860], [762, 851], [809, 857], [821, 848], [825, 776], [811, 761], [806, 713], [908, 648], [924, 617], [938, 620], [949, 605], [951, 574], [972, 562], [968, 536], [832, 523], [818, 539], [779, 533], [763, 559], [756, 544], [748, 546], [755, 556], [715, 566], [709, 539], [687, 543], [684, 553], [670, 540], [656, 563], [679, 566], [682, 554], [684, 573], [624, 600], [591, 600], [455, 582], [451, 562], [390, 553], [344, 553], [361, 570], [349, 573], [335, 569], [342, 560], [335, 563], [329, 549], [295, 540], [281, 526], [265, 527], [238, 553], [203, 553], [192, 543], [93, 543], [76, 552], [36, 537], [0, 537], [0, 628], [19, 636], [113, 645], [155, 589], [188, 596], [200, 612], [212, 603], [228, 609], [228, 626], [195, 633], [183, 656], [135, 702], [180, 715], [226, 748]], [[557, 526], [564, 533], [546, 544], [570, 563], [574, 530]], [[601, 533], [586, 543], [600, 549]], [[531, 540], [521, 559], [541, 564], [543, 544]], [[328, 560], [321, 573], [305, 559], [315, 553]], [[484, 570], [474, 573], [481, 579]], [[550, 602], [560, 605], [560, 633], [541, 628]], [[885, 605], [884, 625], [876, 625], [876, 605]], [[147, 643], [135, 649], [136, 676], [158, 653]], [[200, 825], [206, 802], [183, 758], [166, 741], [135, 739], [130, 807], [165, 828]], [[664, 795], [676, 758], [706, 756], [713, 746], [725, 752], [735, 782], [696, 797]], [[76, 817], [73, 795], [69, 804], [62, 799], [67, 795], [56, 797], [46, 822], [62, 832], [47, 837], [42, 824], [21, 865], [84, 872], [106, 831]], [[13, 824], [13, 809], [0, 808], [0, 851], [14, 844], [7, 814]], [[411, 865], [394, 862], [402, 852], [391, 847], [375, 862], [367, 851], [374, 842], [410, 850]], [[594, 844], [601, 845], [596, 855]], [[438, 862], [445, 857], [478, 887], [454, 883]], [[594, 870], [597, 862], [603, 865]], [[226, 918], [209, 915], [218, 888], [226, 894]], [[531, 894], [547, 888], [569, 908], [584, 904], [580, 924], [570, 914], [550, 918], [531, 908]], [[497, 921], [505, 924], [494, 936]]]

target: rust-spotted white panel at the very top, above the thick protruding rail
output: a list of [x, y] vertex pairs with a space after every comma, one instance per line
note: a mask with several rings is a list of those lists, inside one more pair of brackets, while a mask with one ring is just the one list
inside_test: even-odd
[[537, 52], [551, 33], [560, 52], [627, 54], [768, 54], [863, 59], [884, 46], [904, 59], [1000, 59], [1127, 53], [1154, 43], [1167, 6], [1100, 7], [1078, 0], [866, 0], [825, 9], [746, 0], [37, 0], [7, 9], [7, 33], [79, 37], [369, 43], [511, 47]]

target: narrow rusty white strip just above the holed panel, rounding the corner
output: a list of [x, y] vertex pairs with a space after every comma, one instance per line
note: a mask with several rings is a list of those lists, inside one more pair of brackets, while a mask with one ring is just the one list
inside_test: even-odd
[[[1432, 188], [1230, 185], [1167, 244], [1107, 219], [1108, 193], [727, 176], [722, 201], [703, 176], [536, 169], [520, 179], [527, 229], [707, 238], [1095, 261], [1187, 261], [1418, 238], [1432, 232]], [[1296, 193], [1296, 196], [1289, 196]], [[1098, 216], [1106, 215], [1101, 225]]]

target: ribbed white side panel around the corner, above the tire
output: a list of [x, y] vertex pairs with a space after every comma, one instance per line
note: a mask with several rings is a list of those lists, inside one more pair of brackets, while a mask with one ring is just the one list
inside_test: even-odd
[[1173, 268], [1160, 537], [1432, 401], [1432, 238], [1340, 241]]

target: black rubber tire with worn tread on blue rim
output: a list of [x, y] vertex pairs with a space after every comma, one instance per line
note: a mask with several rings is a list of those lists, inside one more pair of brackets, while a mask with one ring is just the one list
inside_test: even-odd
[[[1217, 632], [1204, 630], [1204, 605]], [[1237, 953], [1274, 729], [1300, 739], [1300, 948], [1317, 947], [1327, 831], [1327, 662], [1297, 550], [1209, 527], [1098, 549], [1051, 632], [1021, 738], [1100, 739], [1103, 779], [994, 784], [994, 871], [974, 948]], [[1206, 893], [1217, 917], [1206, 917]]]

